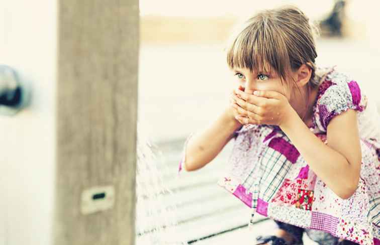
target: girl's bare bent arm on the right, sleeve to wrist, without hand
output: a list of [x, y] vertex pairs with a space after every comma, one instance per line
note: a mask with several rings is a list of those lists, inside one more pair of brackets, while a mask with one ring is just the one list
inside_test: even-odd
[[361, 165], [356, 111], [349, 109], [330, 121], [327, 145], [308, 129], [292, 107], [280, 128], [335, 194], [347, 199], [355, 192]]

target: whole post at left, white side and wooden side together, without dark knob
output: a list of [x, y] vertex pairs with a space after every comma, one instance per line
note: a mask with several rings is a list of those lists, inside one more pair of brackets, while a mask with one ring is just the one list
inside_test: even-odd
[[134, 244], [138, 0], [3, 1], [0, 244]]

